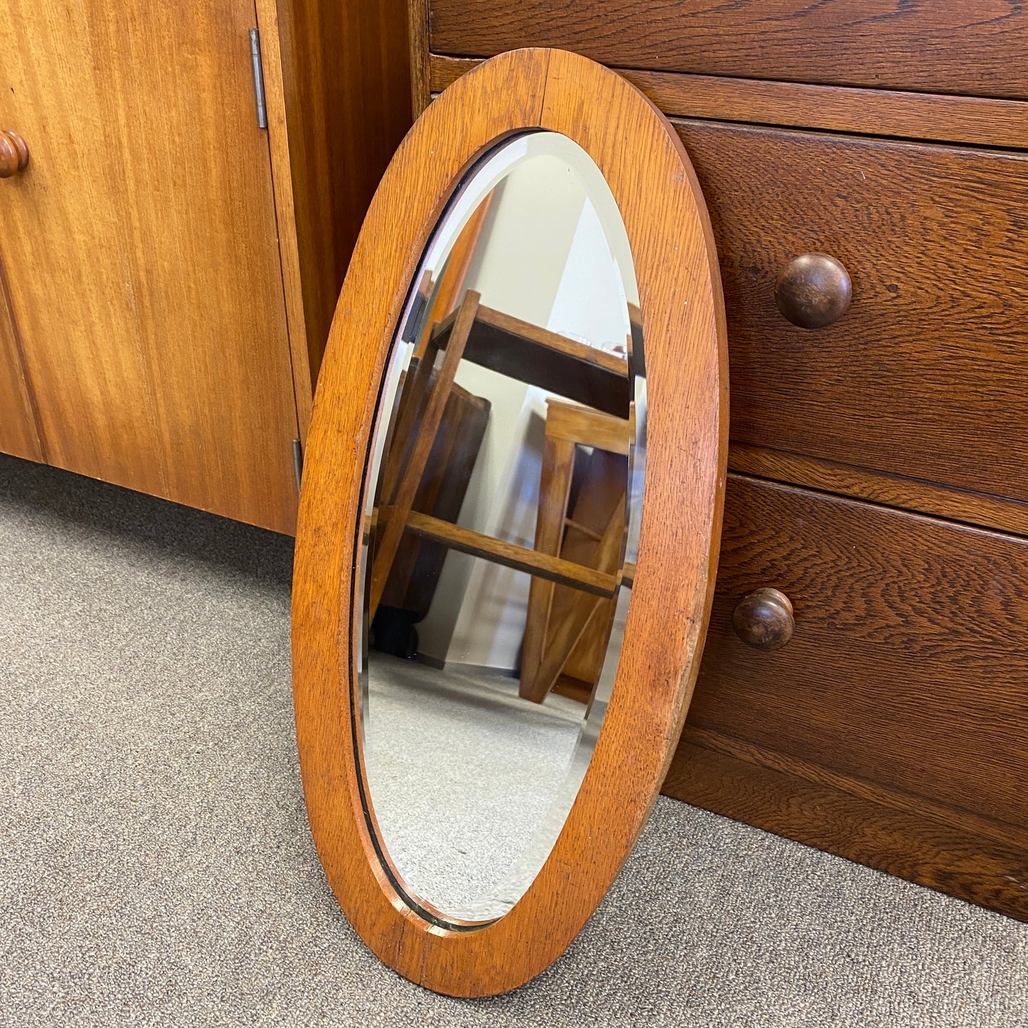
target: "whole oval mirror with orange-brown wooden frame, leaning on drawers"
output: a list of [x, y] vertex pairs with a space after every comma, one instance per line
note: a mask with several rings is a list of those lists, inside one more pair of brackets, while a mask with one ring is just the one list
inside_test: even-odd
[[513, 988], [609, 887], [695, 678], [726, 443], [715, 255], [673, 130], [562, 51], [458, 80], [347, 272], [294, 582], [311, 831], [412, 981]]

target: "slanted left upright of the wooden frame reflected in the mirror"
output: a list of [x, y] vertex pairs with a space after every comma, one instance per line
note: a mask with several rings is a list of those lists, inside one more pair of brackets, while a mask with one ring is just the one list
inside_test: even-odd
[[[375, 555], [371, 562], [371, 589], [368, 599], [369, 622], [374, 619], [382, 592], [386, 589], [386, 582], [393, 566], [393, 559], [396, 557], [396, 551], [400, 545], [404, 526], [407, 523], [407, 515], [410, 514], [410, 508], [414, 503], [417, 486], [421, 481], [421, 475], [425, 473], [425, 464], [429, 458], [429, 453], [432, 451], [432, 444], [435, 442], [436, 433], [439, 431], [439, 425], [446, 409], [446, 401], [449, 399], [450, 387], [453, 384], [457, 365], [461, 363], [461, 358], [464, 355], [465, 343], [468, 341], [471, 327], [478, 313], [478, 301], [479, 294], [469, 289], [465, 294], [464, 303], [461, 305], [461, 309], [453, 322], [453, 329], [450, 332], [446, 355], [443, 358], [443, 363], [439, 368], [439, 373], [436, 375], [435, 382], [429, 393], [428, 401], [425, 404], [425, 411], [417, 426], [417, 434], [410, 447], [410, 455], [406, 461], [403, 473], [396, 487], [392, 510], [386, 514], [384, 508], [379, 508]], [[420, 368], [418, 368], [418, 371], [420, 371]], [[403, 445], [403, 437], [399, 435], [399, 431], [395, 445]], [[384, 498], [386, 495], [388, 493], [383, 489], [382, 497]]]

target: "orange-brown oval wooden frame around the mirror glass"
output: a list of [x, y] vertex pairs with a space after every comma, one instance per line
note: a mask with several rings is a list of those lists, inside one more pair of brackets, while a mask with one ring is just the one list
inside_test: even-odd
[[[453, 931], [398, 895], [361, 805], [351, 717], [356, 537], [386, 360], [421, 254], [471, 163], [498, 139], [533, 128], [562, 133], [591, 155], [625, 222], [646, 333], [646, 492], [614, 692], [567, 820], [506, 916]], [[561, 50], [504, 53], [461, 78], [402, 143], [357, 243], [315, 400], [293, 588], [293, 690], [310, 830], [346, 917], [410, 981], [454, 996], [515, 988], [564, 951], [602, 900], [657, 796], [692, 695], [727, 449], [717, 254], [673, 128], [619, 75]]]

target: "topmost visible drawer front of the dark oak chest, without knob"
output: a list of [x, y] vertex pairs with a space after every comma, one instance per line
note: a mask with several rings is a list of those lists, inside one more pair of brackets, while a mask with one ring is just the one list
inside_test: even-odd
[[1028, 9], [1007, 0], [431, 0], [436, 53], [575, 50], [616, 68], [1028, 97]]

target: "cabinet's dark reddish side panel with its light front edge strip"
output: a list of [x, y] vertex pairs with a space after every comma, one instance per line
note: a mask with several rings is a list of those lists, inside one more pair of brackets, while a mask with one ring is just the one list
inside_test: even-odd
[[297, 393], [305, 384], [308, 401], [361, 222], [411, 124], [407, 6], [404, 0], [257, 0], [257, 6], [271, 64], [265, 77], [278, 74], [281, 82], [281, 107], [277, 96], [268, 97], [269, 142], [280, 231], [295, 240], [287, 240], [283, 265], [287, 302], [295, 308], [301, 300], [302, 319], [291, 309], [290, 327], [305, 336], [307, 361], [294, 360]]

